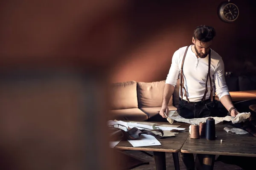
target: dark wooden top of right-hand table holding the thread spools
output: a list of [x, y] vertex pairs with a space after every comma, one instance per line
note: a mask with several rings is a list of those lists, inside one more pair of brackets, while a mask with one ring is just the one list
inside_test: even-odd
[[[224, 127], [235, 128], [229, 124], [215, 125], [217, 136], [215, 140], [191, 139], [189, 135], [181, 148], [181, 152], [256, 157], [256, 137], [250, 133], [244, 135], [230, 134], [223, 130]], [[221, 139], [223, 140], [222, 143]]]

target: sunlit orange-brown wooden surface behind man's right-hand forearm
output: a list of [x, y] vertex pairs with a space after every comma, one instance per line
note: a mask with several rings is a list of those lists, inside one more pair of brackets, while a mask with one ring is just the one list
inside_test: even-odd
[[[232, 101], [243, 101], [256, 99], [256, 90], [253, 91], [230, 91], [230, 96]], [[218, 99], [218, 96], [215, 95], [215, 99]]]

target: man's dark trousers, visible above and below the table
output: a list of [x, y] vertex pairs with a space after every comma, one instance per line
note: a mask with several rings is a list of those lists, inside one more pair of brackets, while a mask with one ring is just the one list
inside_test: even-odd
[[[211, 102], [210, 99], [203, 102], [187, 102], [180, 99], [177, 112], [186, 119], [216, 116], [218, 115], [218, 109], [215, 105], [216, 101]], [[195, 159], [192, 153], [180, 153], [180, 156], [187, 170], [195, 170]], [[202, 159], [203, 155], [198, 154], [196, 159], [198, 166], [201, 166]]]

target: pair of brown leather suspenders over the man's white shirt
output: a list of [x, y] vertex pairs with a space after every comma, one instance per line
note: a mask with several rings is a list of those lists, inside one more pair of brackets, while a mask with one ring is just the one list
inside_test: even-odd
[[[190, 46], [190, 45], [189, 45]], [[187, 46], [186, 48], [186, 51], [184, 53], [184, 56], [183, 56], [183, 59], [182, 59], [182, 63], [181, 63], [181, 69], [180, 69], [180, 96], [181, 96], [181, 100], [183, 99], [183, 93], [182, 93], [182, 89], [184, 89], [184, 96], [186, 96], [186, 99], [187, 101], [189, 102], [189, 99], [187, 97], [187, 94], [186, 94], [186, 89], [184, 88], [184, 77], [183, 77], [183, 64], [184, 64], [184, 60], [185, 60], [185, 57], [186, 57], [186, 53], [189, 49], [189, 46]], [[206, 84], [205, 84], [205, 92], [204, 92], [204, 96], [202, 98], [202, 101], [205, 100], [205, 97], [206, 97], [206, 94], [208, 92], [208, 88], [207, 88], [207, 82], [208, 82], [208, 77], [209, 77], [209, 80], [210, 80], [210, 97], [211, 97], [211, 101], [213, 101], [213, 88], [212, 88], [212, 78], [210, 76], [210, 68], [211, 68], [211, 49], [209, 50], [209, 63], [208, 63], [208, 73], [207, 73], [207, 79], [206, 79]]]

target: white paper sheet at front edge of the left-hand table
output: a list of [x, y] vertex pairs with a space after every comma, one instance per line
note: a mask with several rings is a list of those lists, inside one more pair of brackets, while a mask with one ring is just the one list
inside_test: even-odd
[[140, 138], [137, 140], [128, 140], [128, 142], [130, 142], [133, 147], [161, 145], [154, 136], [146, 134], [140, 135]]

